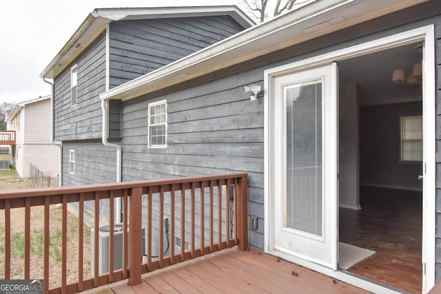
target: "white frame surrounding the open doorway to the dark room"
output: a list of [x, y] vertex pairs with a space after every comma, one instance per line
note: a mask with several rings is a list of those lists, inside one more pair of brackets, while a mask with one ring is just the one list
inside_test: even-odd
[[264, 100], [265, 100], [265, 245], [266, 253], [278, 255], [281, 258], [291, 260], [296, 264], [306, 266], [325, 275], [335, 277], [343, 282], [348, 282], [360, 288], [375, 293], [396, 293], [389, 288], [367, 282], [366, 280], [348, 275], [344, 271], [334, 271], [314, 262], [308, 262], [292, 255], [276, 251], [274, 249], [274, 197], [271, 196], [275, 185], [279, 185], [278, 179], [274, 178], [274, 156], [276, 156], [274, 132], [274, 101], [270, 99], [267, 89], [271, 79], [280, 74], [291, 71], [299, 71], [309, 67], [342, 61], [356, 56], [380, 52], [391, 48], [397, 48], [416, 42], [424, 42], [423, 46], [423, 84], [422, 84], [422, 109], [423, 109], [423, 196], [422, 196], [422, 263], [425, 274], [422, 275], [423, 293], [435, 284], [435, 28], [427, 25], [407, 32], [393, 34], [381, 39], [353, 45], [349, 48], [329, 52], [320, 56], [289, 63], [279, 67], [265, 70]]

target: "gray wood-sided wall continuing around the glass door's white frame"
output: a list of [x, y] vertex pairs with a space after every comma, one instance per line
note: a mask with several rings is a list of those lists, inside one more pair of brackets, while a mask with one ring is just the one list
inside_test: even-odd
[[[441, 16], [418, 20], [418, 16], [410, 16], [411, 12], [412, 10], [398, 12], [280, 50], [253, 63], [230, 67], [214, 74], [213, 76], [219, 77], [216, 81], [201, 83], [172, 94], [143, 97], [135, 99], [136, 102], [123, 103], [123, 181], [245, 171], [249, 174], [249, 216], [259, 218], [258, 229], [249, 229], [249, 244], [263, 250], [263, 101], [249, 101], [243, 86], [251, 83], [263, 85], [264, 70], [278, 65], [433, 23], [437, 25], [439, 46], [441, 35], [438, 25]], [[404, 19], [411, 21], [404, 23]], [[438, 60], [440, 53], [438, 48]], [[438, 65], [438, 72], [440, 70]], [[441, 98], [439, 76], [438, 74], [437, 105]], [[147, 104], [163, 99], [167, 99], [167, 148], [148, 148]], [[441, 114], [440, 109], [438, 107], [438, 114]], [[438, 141], [441, 139], [440, 134], [437, 136]], [[439, 158], [438, 162], [440, 169]], [[440, 182], [438, 179], [438, 198], [441, 197]], [[439, 203], [440, 201], [438, 207], [441, 207]], [[438, 220], [441, 223], [440, 208]], [[438, 256], [441, 256], [440, 227], [438, 224]], [[436, 273], [438, 280], [441, 276], [440, 263], [437, 263]]]

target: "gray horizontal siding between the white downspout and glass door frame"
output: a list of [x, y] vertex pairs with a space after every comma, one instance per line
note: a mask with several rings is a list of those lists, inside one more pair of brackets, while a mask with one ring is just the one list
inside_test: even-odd
[[[123, 181], [245, 171], [249, 214], [263, 219], [263, 103], [243, 91], [262, 78], [261, 70], [252, 70], [155, 98], [167, 99], [166, 149], [147, 147], [147, 104], [153, 100], [125, 103]], [[263, 222], [249, 238], [263, 249]]]

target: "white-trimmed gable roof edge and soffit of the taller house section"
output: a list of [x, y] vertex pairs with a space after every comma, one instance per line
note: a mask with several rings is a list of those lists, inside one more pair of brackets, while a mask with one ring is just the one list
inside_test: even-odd
[[179, 8], [98, 8], [88, 14], [83, 23], [41, 72], [40, 77], [54, 78], [79, 56], [85, 48], [105, 30], [112, 21], [128, 19], [152, 19], [158, 17], [190, 17], [203, 15], [229, 15], [244, 28], [250, 28], [254, 21], [236, 6], [194, 6]]

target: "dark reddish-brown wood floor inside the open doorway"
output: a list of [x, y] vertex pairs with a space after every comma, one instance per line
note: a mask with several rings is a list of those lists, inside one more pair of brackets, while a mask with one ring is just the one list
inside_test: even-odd
[[422, 286], [422, 193], [360, 187], [362, 209], [340, 209], [339, 241], [376, 251], [347, 271], [409, 293]]

